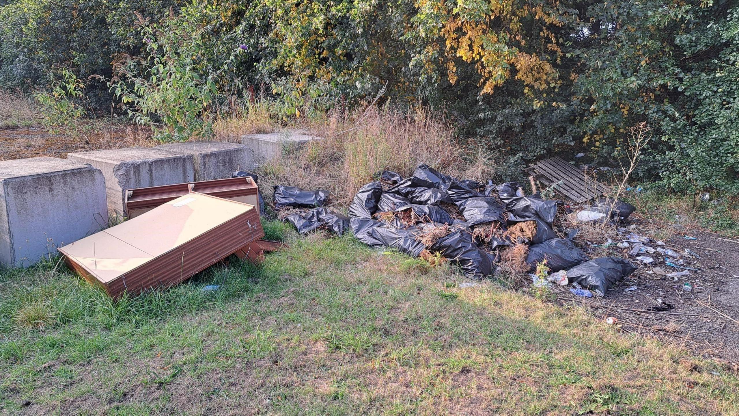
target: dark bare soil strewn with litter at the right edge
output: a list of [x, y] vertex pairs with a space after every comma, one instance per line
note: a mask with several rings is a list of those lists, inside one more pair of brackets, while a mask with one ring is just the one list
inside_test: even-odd
[[[638, 229], [635, 230], [638, 233]], [[739, 363], [739, 241], [712, 232], [694, 231], [689, 237], [675, 234], [664, 240], [664, 247], [684, 253], [689, 249], [700, 258], [681, 255], [689, 275], [668, 266], [659, 252], [644, 254], [654, 258], [628, 278], [606, 292], [604, 298], [579, 298], [562, 292], [560, 298], [585, 303], [604, 321], [616, 318], [620, 329], [686, 346], [706, 358]], [[614, 242], [615, 244], [615, 242]], [[655, 246], [656, 245], [652, 245]], [[621, 257], [638, 264], [629, 249]], [[670, 260], [673, 264], [677, 260]], [[664, 270], [664, 272], [662, 272]], [[687, 292], [685, 284], [692, 286]], [[627, 290], [636, 286], [634, 290]]]

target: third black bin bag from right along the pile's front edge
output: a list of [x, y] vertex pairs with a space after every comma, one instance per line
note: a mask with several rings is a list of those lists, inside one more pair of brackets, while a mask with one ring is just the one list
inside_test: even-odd
[[431, 252], [440, 252], [456, 264], [472, 278], [484, 278], [493, 274], [494, 258], [480, 249], [472, 240], [472, 235], [463, 229], [457, 229], [445, 237], [439, 238], [429, 247]]

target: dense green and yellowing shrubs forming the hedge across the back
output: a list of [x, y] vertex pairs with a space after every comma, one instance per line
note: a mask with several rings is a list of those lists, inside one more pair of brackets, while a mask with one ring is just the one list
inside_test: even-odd
[[[112, 62], [123, 57], [130, 73], [137, 62], [151, 67], [121, 77], [118, 98], [131, 98], [134, 111], [146, 115], [146, 105], [159, 99], [149, 94], [166, 84], [151, 78], [185, 76], [184, 102], [193, 108], [174, 118], [188, 125], [216, 100], [198, 98], [201, 93], [221, 100], [253, 99], [255, 91], [277, 95], [289, 104], [290, 117], [310, 113], [307, 107], [317, 103], [443, 107], [460, 136], [505, 159], [511, 172], [554, 152], [615, 161], [627, 129], [646, 122], [655, 140], [638, 172], [642, 178], [681, 191], [739, 193], [735, 1], [0, 4], [4, 87], [43, 87], [44, 74], [59, 66], [81, 79], [109, 79]], [[135, 25], [134, 12], [151, 21]], [[160, 49], [146, 43], [146, 30], [159, 33]], [[197, 45], [177, 47], [183, 39]], [[162, 50], [177, 53], [167, 57]], [[228, 74], [215, 76], [223, 62], [231, 62]], [[152, 72], [157, 68], [158, 75]], [[135, 92], [137, 84], [146, 87], [143, 95]], [[99, 89], [107, 91], [103, 84]], [[161, 118], [152, 123], [171, 124], [163, 120], [166, 112], [151, 116]]]

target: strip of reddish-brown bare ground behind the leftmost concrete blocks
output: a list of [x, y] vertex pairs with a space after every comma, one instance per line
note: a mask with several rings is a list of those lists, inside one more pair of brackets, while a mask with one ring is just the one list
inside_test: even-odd
[[146, 137], [146, 132], [140, 128], [126, 126], [92, 129], [75, 134], [50, 133], [42, 127], [0, 129], [0, 161], [37, 156], [66, 158], [67, 153], [71, 152], [156, 144], [143, 137]]

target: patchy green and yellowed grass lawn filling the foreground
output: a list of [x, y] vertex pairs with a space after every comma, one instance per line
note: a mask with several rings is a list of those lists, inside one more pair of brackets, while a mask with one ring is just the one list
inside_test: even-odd
[[62, 266], [0, 272], [0, 414], [739, 412], [727, 369], [581, 309], [348, 236], [286, 239], [118, 303]]

